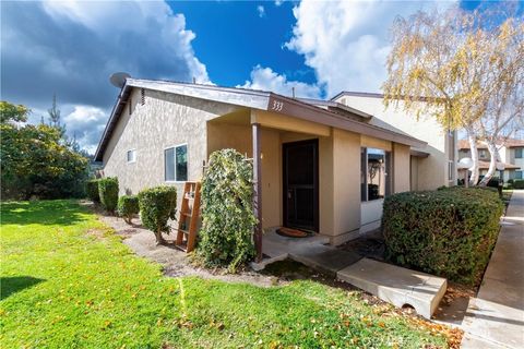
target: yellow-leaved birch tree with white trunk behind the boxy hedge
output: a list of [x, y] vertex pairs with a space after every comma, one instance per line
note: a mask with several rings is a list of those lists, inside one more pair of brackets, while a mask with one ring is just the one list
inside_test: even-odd
[[[504, 13], [504, 23], [514, 23], [509, 12]], [[389, 76], [383, 84], [385, 106], [398, 108], [402, 104], [405, 110], [415, 111], [417, 119], [429, 115], [445, 130], [466, 131], [474, 161], [472, 184], [478, 182], [478, 121], [489, 109], [490, 94], [502, 86], [493, 83], [497, 80], [490, 73], [496, 63], [493, 40], [500, 32], [491, 23], [493, 17], [500, 20], [493, 12], [455, 7], [396, 19], [386, 63]]]

